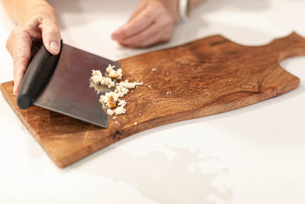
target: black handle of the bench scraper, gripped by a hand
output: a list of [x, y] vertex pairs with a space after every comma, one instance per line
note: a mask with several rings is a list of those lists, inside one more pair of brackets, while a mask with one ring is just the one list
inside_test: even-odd
[[[62, 48], [62, 40], [60, 43]], [[35, 98], [55, 71], [60, 54], [61, 50], [57, 55], [49, 53], [44, 45], [39, 48], [30, 61], [20, 85], [17, 98], [17, 104], [20, 108], [27, 109], [33, 105]]]

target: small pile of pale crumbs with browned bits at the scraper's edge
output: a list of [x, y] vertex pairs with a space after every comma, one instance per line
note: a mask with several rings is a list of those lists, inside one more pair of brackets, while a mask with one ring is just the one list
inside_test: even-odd
[[[109, 88], [116, 86], [114, 91], [107, 92], [105, 95], [101, 95], [100, 102], [103, 104], [103, 106], [108, 106], [109, 109], [107, 109], [107, 113], [109, 115], [113, 115], [114, 113], [117, 115], [126, 113], [126, 109], [124, 107], [126, 106], [127, 102], [125, 100], [119, 99], [120, 97], [123, 97], [129, 92], [129, 89], [138, 87], [138, 85], [142, 85], [143, 82], [128, 82], [128, 80], [121, 81], [120, 83], [115, 84], [112, 79], [118, 79], [122, 80], [122, 69], [114, 70], [115, 66], [108, 65], [106, 68], [106, 72], [108, 73], [109, 77], [102, 76], [102, 73], [100, 70], [92, 70], [92, 77], [94, 83], [98, 84], [105, 84]], [[128, 100], [128, 99], [127, 99]], [[118, 107], [114, 110], [111, 108], [114, 108], [118, 105]]]

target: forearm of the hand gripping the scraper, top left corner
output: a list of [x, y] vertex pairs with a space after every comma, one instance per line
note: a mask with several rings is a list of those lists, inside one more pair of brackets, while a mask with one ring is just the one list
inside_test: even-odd
[[1, 0], [6, 12], [17, 23], [28, 15], [41, 11], [39, 7], [52, 8], [45, 0]]

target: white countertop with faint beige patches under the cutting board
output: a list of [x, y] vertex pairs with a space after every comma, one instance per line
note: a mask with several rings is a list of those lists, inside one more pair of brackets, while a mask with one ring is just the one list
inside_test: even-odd
[[[52, 0], [66, 44], [112, 59], [221, 34], [263, 45], [305, 37], [305, 1], [207, 0], [171, 42], [130, 49], [110, 39], [137, 0]], [[1, 5], [1, 4], [0, 4]], [[15, 24], [0, 6], [0, 83], [13, 79], [5, 41]], [[226, 113], [153, 128], [59, 169], [0, 97], [0, 203], [305, 203], [305, 57], [281, 62], [289, 93]]]

